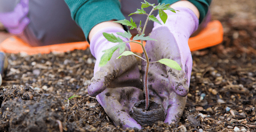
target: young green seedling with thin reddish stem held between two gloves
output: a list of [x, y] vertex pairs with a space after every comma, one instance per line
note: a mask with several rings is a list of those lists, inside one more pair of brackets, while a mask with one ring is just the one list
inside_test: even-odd
[[[145, 109], [147, 110], [149, 108], [149, 95], [148, 95], [148, 88], [147, 88], [147, 76], [148, 76], [148, 71], [149, 71], [149, 64], [150, 63], [158, 63], [159, 62], [161, 64], [165, 64], [166, 66], [174, 68], [176, 70], [182, 70], [182, 69], [181, 69], [180, 65], [176, 61], [173, 61], [171, 59], [164, 58], [164, 59], [160, 59], [158, 61], [149, 62], [149, 58], [148, 58], [147, 52], [145, 50], [145, 47], [143, 45], [143, 41], [154, 40], [154, 39], [153, 38], [149, 38], [149, 36], [145, 37], [144, 36], [145, 35], [144, 32], [145, 32], [145, 29], [147, 27], [147, 23], [148, 23], [149, 20], [157, 22], [158, 24], [161, 24], [161, 22], [158, 19], [156, 19], [156, 17], [154, 15], [152, 15], [152, 12], [154, 10], [159, 10], [159, 16], [160, 16], [161, 20], [163, 21], [163, 23], [165, 24], [168, 16], [164, 12], [164, 10], [170, 10], [170, 11], [172, 11], [174, 13], [175, 13], [175, 10], [173, 8], [169, 7], [170, 4], [160, 4], [159, 3], [158, 5], [154, 5], [154, 4], [150, 4], [149, 2], [147, 2], [145, 0], [144, 0], [144, 2], [141, 2], [142, 3], [141, 9], [137, 9], [136, 12], [129, 14], [129, 16], [133, 15], [133, 14], [145, 14], [145, 15], [147, 15], [147, 19], [145, 21], [145, 24], [144, 24], [143, 28], [141, 27], [141, 21], [140, 21], [139, 26], [137, 26], [132, 18], [130, 18], [130, 21], [128, 21], [126, 19], [120, 20], [120, 21], [114, 21], [114, 22], [117, 22], [117, 23], [120, 23], [120, 24], [123, 24], [123, 25], [126, 25], [126, 26], [130, 26], [130, 29], [136, 29], [138, 34], [133, 37], [133, 40], [130, 40], [130, 38], [132, 37], [130, 31], [124, 32], [124, 33], [121, 33], [121, 32], [117, 32], [116, 33], [117, 35], [120, 35], [120, 36], [122, 36], [124, 38], [128, 38], [130, 40], [130, 41], [126, 41], [126, 42], [123, 42], [123, 40], [121, 38], [116, 37], [114, 34], [103, 33], [104, 37], [109, 42], [119, 42], [119, 44], [114, 46], [114, 47], [112, 47], [112, 48], [110, 48], [110, 49], [108, 49], [108, 50], [104, 50], [103, 51], [105, 53], [101, 57], [99, 66], [106, 65], [107, 61], [109, 61], [111, 59], [112, 54], [114, 53], [114, 51], [116, 51], [118, 48], [120, 49], [119, 50], [119, 54], [121, 54], [121, 55], [119, 57], [117, 57], [116, 59], [119, 59], [122, 56], [135, 55], [135, 56], [141, 58], [142, 60], [146, 61], [147, 64], [146, 64], [146, 70], [145, 70], [144, 88], [145, 88], [145, 100], [146, 100]], [[152, 10], [149, 12], [149, 14], [147, 14], [145, 12], [145, 10], [143, 9], [143, 8], [147, 8], [147, 7], [153, 7]], [[139, 40], [139, 42], [137, 42], [136, 40]], [[154, 41], [156, 41], [156, 40], [154, 40]], [[143, 50], [143, 52], [145, 54], [145, 59], [140, 57], [140, 56], [138, 56], [137, 54], [134, 54], [131, 51], [124, 51], [127, 42], [135, 42], [137, 44], [140, 44], [141, 47], [142, 47], [142, 50]]]

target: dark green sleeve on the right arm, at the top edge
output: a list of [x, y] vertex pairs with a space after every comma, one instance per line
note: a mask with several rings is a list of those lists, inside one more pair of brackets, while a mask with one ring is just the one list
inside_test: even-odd
[[[180, 0], [159, 0], [159, 3], [165, 4], [173, 4]], [[188, 0], [193, 3], [197, 9], [199, 10], [200, 17], [199, 17], [199, 24], [203, 21], [206, 13], [208, 12], [209, 5], [211, 4], [211, 0]]]

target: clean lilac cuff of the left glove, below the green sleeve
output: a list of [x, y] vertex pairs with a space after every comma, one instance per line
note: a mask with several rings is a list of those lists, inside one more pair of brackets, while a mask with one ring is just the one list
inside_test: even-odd
[[[103, 50], [107, 50], [107, 49], [119, 44], [117, 42], [115, 42], [115, 43], [109, 42], [103, 36], [102, 33], [110, 33], [110, 34], [113, 33], [116, 37], [121, 38], [123, 41], [129, 41], [128, 38], [119, 36], [116, 34], [116, 32], [124, 33], [125, 30], [123, 30], [122, 28], [118, 28], [118, 27], [107, 27], [107, 28], [101, 29], [92, 37], [92, 40], [90, 42], [90, 51], [96, 59], [100, 59], [102, 57], [102, 55], [104, 54], [104, 52], [102, 52]], [[129, 43], [126, 43], [126, 45], [130, 48]]]

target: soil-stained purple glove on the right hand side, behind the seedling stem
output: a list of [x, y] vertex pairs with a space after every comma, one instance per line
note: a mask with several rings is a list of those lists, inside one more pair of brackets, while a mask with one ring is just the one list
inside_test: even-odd
[[[149, 97], [163, 104], [166, 123], [179, 120], [185, 108], [192, 71], [188, 39], [197, 30], [199, 24], [192, 10], [185, 7], [175, 9], [179, 11], [176, 13], [165, 11], [168, 14], [166, 24], [154, 23], [149, 37], [157, 41], [148, 41], [145, 46], [151, 62], [168, 58], [178, 62], [183, 69], [178, 71], [160, 63], [149, 64]], [[159, 16], [157, 19], [161, 20]], [[145, 65], [145, 61], [142, 61], [142, 71], [145, 70]]]

